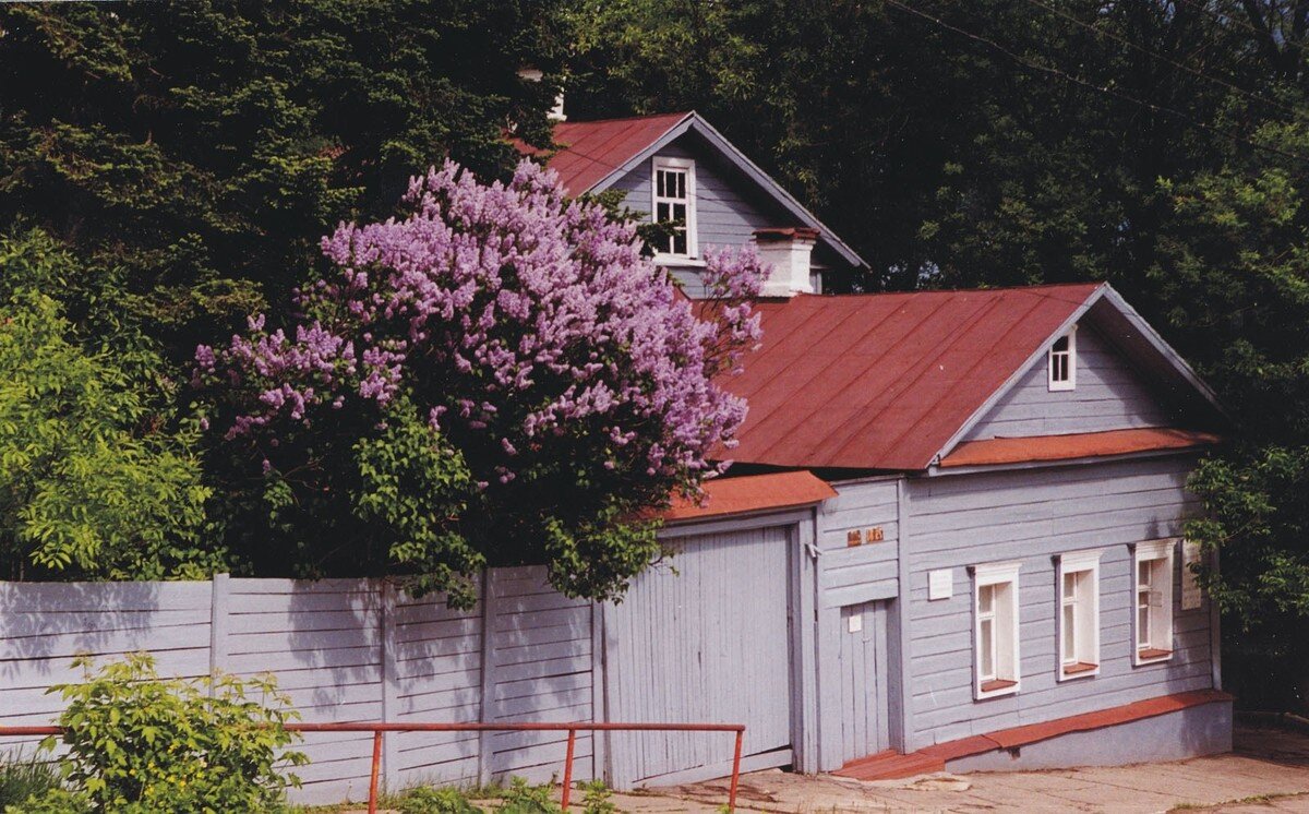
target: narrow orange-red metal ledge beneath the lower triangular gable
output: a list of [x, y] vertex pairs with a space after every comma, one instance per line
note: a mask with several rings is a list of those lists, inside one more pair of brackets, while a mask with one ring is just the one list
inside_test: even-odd
[[1148, 427], [1143, 429], [1110, 429], [1079, 432], [1066, 436], [1031, 436], [1026, 438], [988, 438], [965, 441], [941, 459], [941, 466], [984, 466], [990, 463], [1025, 463], [1029, 461], [1068, 461], [1098, 455], [1124, 455], [1162, 449], [1190, 449], [1217, 444], [1208, 432]]

